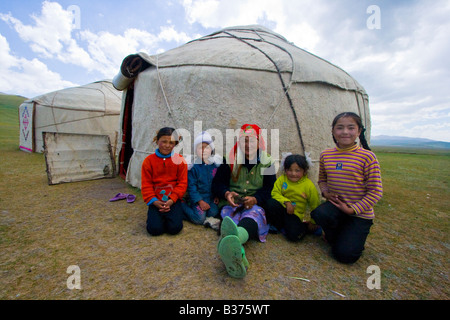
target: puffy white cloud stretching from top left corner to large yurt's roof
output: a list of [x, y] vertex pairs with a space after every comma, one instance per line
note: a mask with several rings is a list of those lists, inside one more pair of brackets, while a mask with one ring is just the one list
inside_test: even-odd
[[123, 34], [77, 30], [72, 12], [56, 2], [43, 2], [41, 13], [31, 17], [33, 25], [24, 25], [11, 14], [0, 13], [0, 19], [14, 28], [41, 58], [80, 66], [106, 78], [112, 78], [118, 72], [122, 60], [129, 54], [160, 53], [164, 51], [162, 44], [173, 42], [179, 45], [192, 40], [173, 25], [161, 26], [159, 34], [136, 28], [126, 29]]

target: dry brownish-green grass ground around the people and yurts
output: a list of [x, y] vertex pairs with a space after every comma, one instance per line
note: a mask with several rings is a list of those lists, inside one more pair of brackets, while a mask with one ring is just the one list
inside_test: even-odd
[[[384, 197], [355, 264], [318, 237], [271, 234], [245, 245], [250, 269], [237, 280], [213, 230], [185, 222], [179, 235], [149, 236], [140, 191], [121, 178], [49, 186], [44, 156], [18, 150], [17, 109], [4, 103], [0, 116], [0, 299], [450, 298], [448, 154], [377, 152]], [[118, 192], [138, 199], [109, 202]], [[67, 287], [71, 265], [80, 290]], [[380, 289], [366, 285], [371, 265]]]

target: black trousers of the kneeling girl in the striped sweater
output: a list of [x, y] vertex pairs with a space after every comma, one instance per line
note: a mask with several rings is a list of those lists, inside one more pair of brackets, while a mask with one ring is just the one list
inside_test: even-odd
[[311, 212], [311, 217], [325, 232], [325, 238], [331, 245], [331, 252], [336, 260], [354, 263], [361, 257], [373, 224], [372, 219], [349, 216], [329, 201]]

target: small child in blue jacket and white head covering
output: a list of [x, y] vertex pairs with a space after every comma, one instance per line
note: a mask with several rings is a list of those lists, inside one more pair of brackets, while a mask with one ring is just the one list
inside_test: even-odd
[[[204, 224], [206, 217], [219, 213], [218, 199], [211, 192], [211, 183], [220, 165], [215, 159], [211, 135], [203, 131], [194, 140], [193, 166], [189, 166], [186, 202], [182, 203], [187, 220]], [[222, 159], [220, 159], [222, 160]]]

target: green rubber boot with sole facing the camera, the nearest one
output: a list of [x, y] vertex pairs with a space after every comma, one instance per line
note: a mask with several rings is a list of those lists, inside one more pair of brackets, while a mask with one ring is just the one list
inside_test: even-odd
[[236, 235], [228, 235], [219, 243], [219, 255], [228, 274], [242, 279], [247, 275], [248, 261], [241, 240]]

